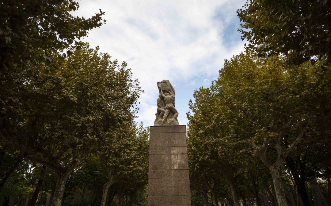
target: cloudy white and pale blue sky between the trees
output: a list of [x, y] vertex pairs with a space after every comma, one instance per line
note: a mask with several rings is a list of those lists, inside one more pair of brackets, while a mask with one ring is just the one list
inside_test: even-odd
[[153, 126], [157, 82], [168, 79], [176, 91], [178, 122], [186, 125], [195, 89], [218, 77], [225, 59], [244, 50], [236, 11], [245, 0], [81, 0], [73, 15], [91, 17], [101, 9], [106, 24], [82, 41], [125, 61], [145, 91], [136, 121]]

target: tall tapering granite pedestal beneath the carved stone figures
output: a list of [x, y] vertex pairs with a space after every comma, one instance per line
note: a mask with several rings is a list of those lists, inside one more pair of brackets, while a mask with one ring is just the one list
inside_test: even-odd
[[148, 205], [191, 206], [185, 125], [150, 127]]

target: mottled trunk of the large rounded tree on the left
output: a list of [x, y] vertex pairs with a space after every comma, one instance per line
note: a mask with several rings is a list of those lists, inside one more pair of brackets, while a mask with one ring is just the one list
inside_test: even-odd
[[51, 206], [61, 206], [64, 189], [71, 171], [63, 171], [58, 174]]

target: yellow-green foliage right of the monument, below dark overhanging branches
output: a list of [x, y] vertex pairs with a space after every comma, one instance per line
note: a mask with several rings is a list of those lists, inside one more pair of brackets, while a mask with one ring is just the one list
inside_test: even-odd
[[257, 201], [253, 191], [265, 191], [271, 183], [266, 170], [284, 170], [288, 155], [309, 162], [307, 177], [329, 177], [321, 156], [330, 150], [330, 79], [325, 60], [300, 66], [277, 56], [262, 61], [240, 54], [226, 60], [218, 79], [196, 90], [189, 103], [192, 188], [204, 192], [226, 181], [226, 191], [233, 182], [235, 190], [218, 193], [220, 199], [237, 192]]

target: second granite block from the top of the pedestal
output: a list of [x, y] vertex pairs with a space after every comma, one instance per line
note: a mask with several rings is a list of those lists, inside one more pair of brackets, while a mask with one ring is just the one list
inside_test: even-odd
[[151, 133], [150, 147], [186, 147], [186, 133]]

